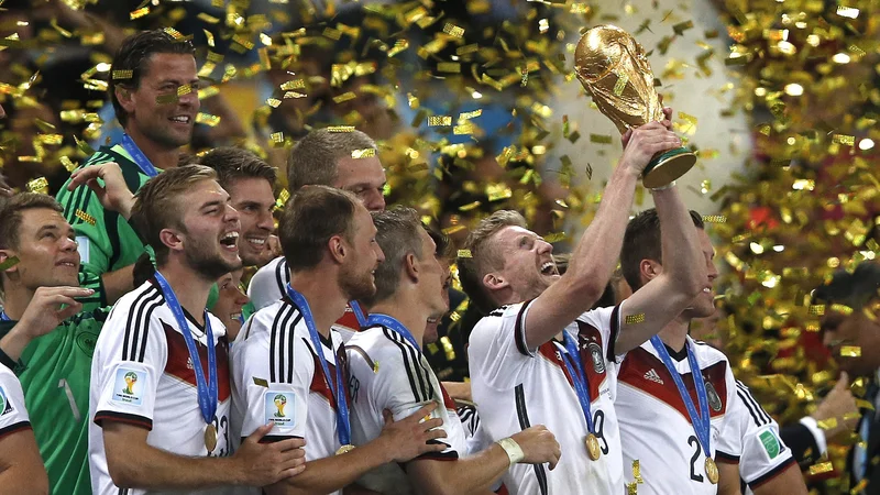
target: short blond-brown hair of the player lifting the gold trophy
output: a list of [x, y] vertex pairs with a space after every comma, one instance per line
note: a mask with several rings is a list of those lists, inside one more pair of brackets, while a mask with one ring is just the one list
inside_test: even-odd
[[459, 257], [461, 286], [476, 308], [483, 312], [488, 312], [498, 306], [483, 286], [483, 277], [493, 270], [504, 267], [504, 257], [491, 239], [505, 227], [525, 229], [526, 219], [514, 210], [498, 210], [484, 218], [464, 241], [464, 249], [470, 252], [470, 256]]

